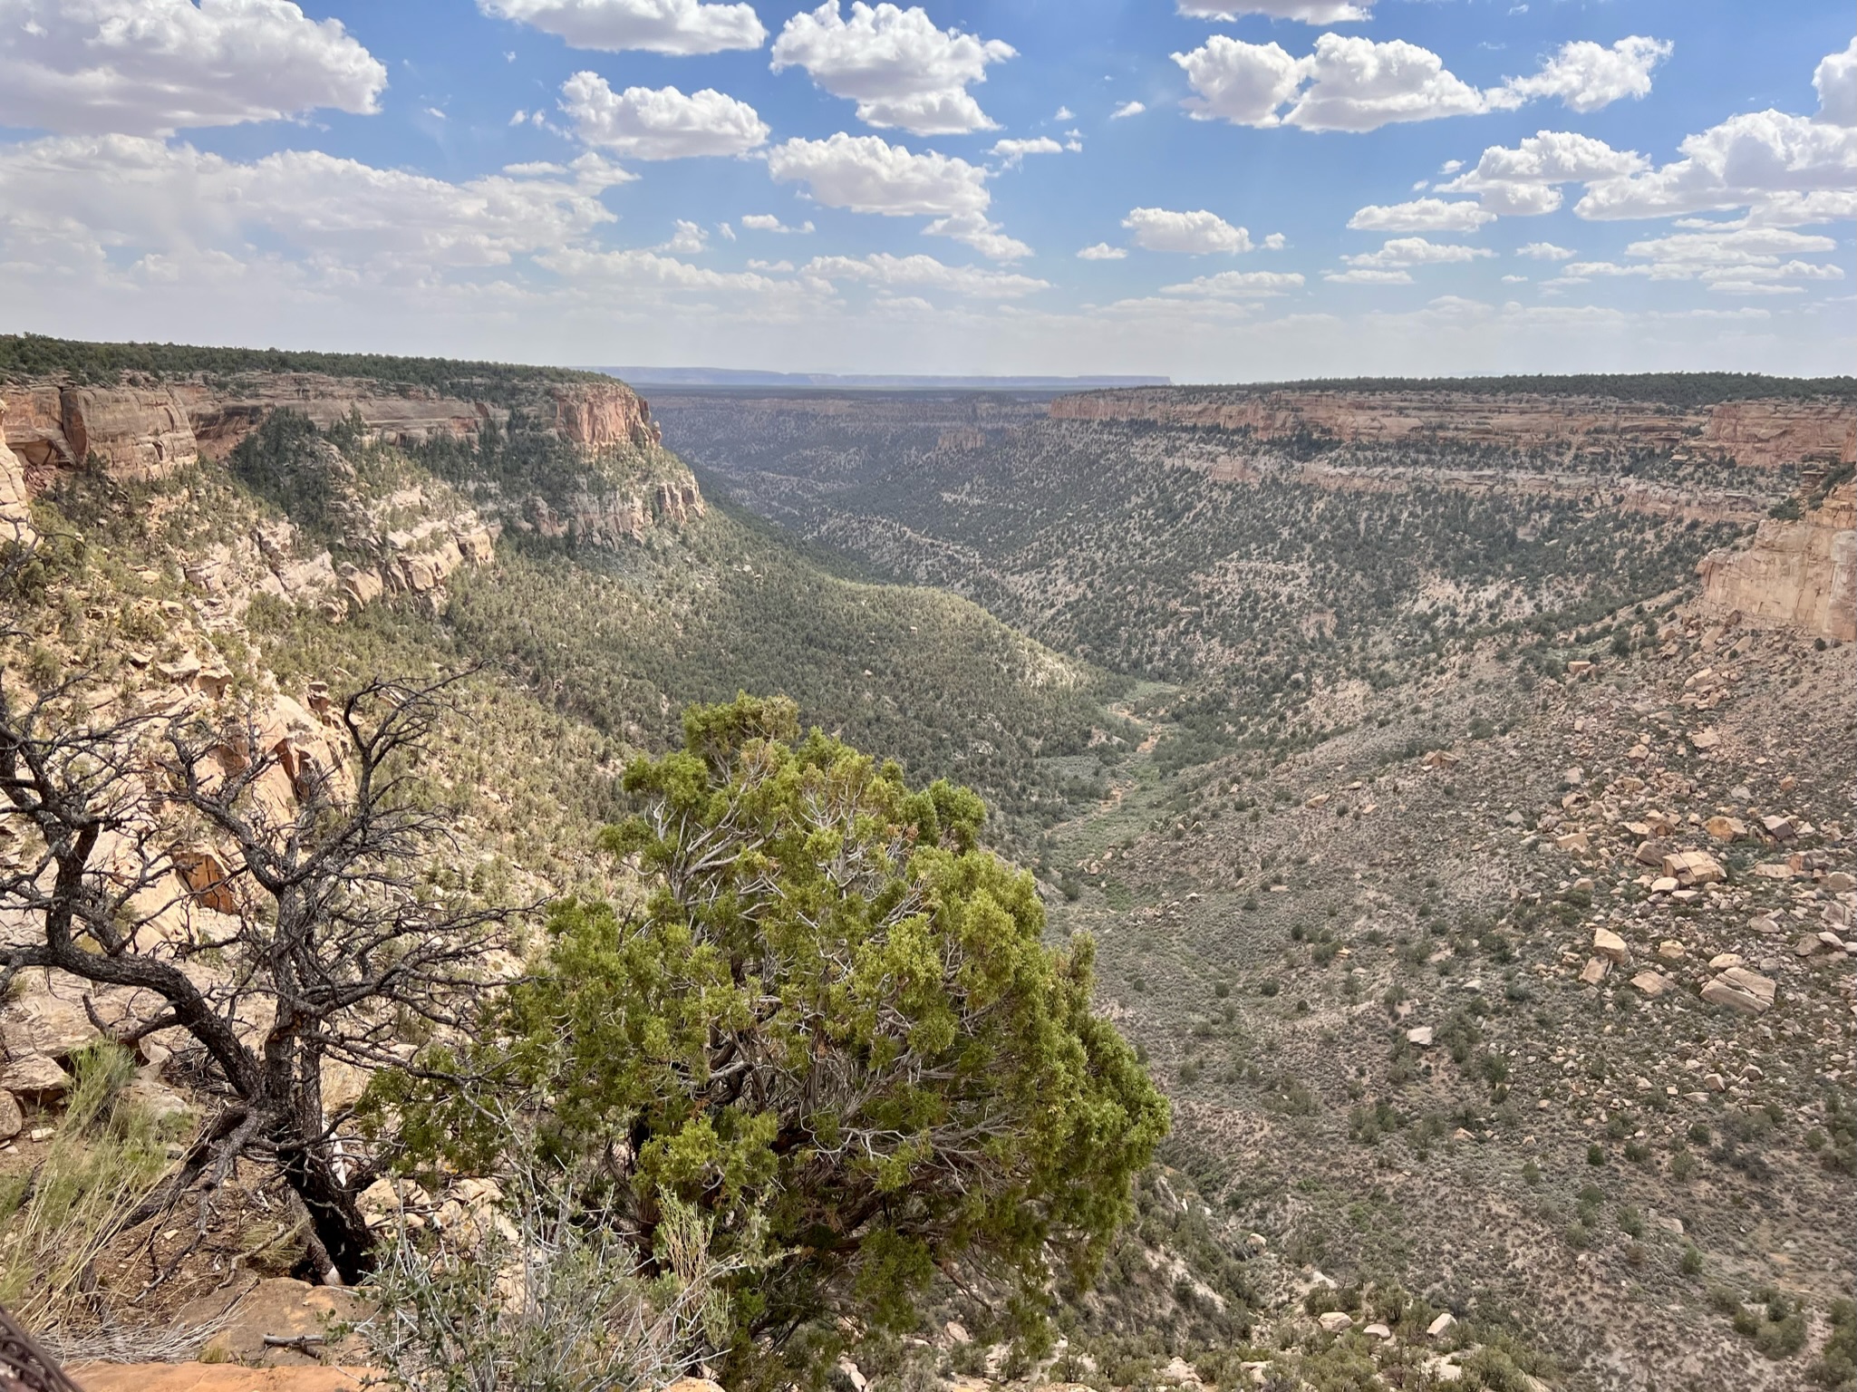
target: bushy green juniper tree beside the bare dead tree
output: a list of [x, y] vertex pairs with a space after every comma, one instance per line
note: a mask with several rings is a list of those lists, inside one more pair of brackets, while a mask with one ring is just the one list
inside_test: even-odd
[[732, 1377], [828, 1316], [906, 1325], [938, 1270], [1038, 1342], [1168, 1127], [1090, 1013], [1088, 941], [1042, 943], [1032, 878], [975, 843], [977, 794], [800, 739], [786, 700], [689, 711], [626, 787], [644, 811], [605, 844], [644, 906], [553, 911], [472, 1058], [427, 1060], [474, 1086], [377, 1086], [409, 1156], [494, 1166], [494, 1088], [602, 1158], [600, 1212], [639, 1251], [702, 1210], [743, 1271]]

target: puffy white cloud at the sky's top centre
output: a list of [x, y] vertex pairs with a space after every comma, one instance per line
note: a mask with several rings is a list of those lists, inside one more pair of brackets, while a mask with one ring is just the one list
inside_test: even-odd
[[845, 19], [839, 0], [826, 0], [780, 30], [773, 69], [806, 69], [834, 97], [854, 100], [867, 126], [951, 135], [995, 128], [967, 87], [986, 82], [988, 63], [1014, 54], [999, 39], [936, 28], [919, 6], [854, 0]]

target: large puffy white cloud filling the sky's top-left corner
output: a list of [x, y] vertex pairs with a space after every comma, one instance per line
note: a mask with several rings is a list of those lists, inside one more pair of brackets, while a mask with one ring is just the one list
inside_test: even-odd
[[370, 113], [386, 69], [290, 0], [0, 0], [0, 124], [165, 135]]

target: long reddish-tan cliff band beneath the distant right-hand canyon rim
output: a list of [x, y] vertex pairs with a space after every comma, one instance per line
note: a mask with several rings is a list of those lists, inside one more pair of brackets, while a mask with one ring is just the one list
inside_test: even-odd
[[1614, 397], [1480, 395], [1467, 392], [1088, 392], [1051, 403], [1053, 419], [1153, 421], [1389, 444], [1415, 436], [1454, 444], [1577, 449], [1699, 449], [1736, 464], [1857, 462], [1857, 410], [1837, 401], [1725, 401], [1679, 408]]

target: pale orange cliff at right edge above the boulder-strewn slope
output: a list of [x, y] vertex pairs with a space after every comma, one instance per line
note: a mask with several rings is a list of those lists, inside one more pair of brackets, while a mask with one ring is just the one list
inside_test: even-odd
[[1857, 640], [1857, 484], [1833, 488], [1798, 522], [1762, 522], [1746, 549], [1712, 551], [1697, 574], [1712, 614]]

